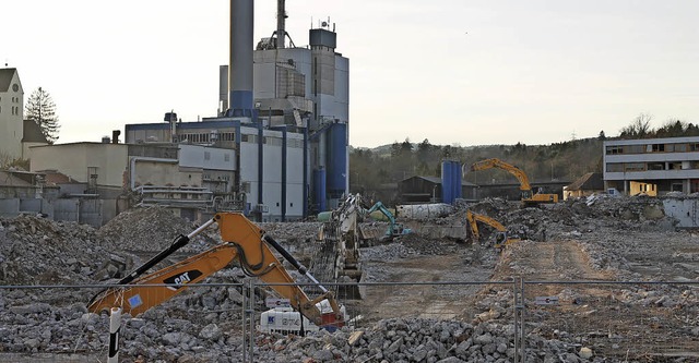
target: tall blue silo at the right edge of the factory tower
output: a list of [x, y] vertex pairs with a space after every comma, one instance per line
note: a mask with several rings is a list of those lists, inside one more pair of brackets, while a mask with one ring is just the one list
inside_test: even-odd
[[347, 185], [347, 124], [333, 124], [328, 136], [327, 187], [330, 194], [342, 195]]

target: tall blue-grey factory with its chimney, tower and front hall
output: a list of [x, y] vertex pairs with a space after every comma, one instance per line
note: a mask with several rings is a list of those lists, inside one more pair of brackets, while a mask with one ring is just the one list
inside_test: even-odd
[[258, 221], [300, 219], [335, 208], [348, 191], [350, 62], [329, 21], [296, 47], [284, 1], [276, 31], [253, 47], [252, 4], [230, 4], [233, 65], [220, 68], [217, 117], [128, 124], [126, 142], [230, 148], [236, 162], [222, 197], [242, 202]]

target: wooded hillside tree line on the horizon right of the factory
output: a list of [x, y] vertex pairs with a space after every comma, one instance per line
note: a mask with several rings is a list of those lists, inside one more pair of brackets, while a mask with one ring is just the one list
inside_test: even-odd
[[[603, 142], [608, 138], [654, 138], [699, 136], [699, 125], [668, 120], [657, 129], [652, 117], [641, 113], [614, 137], [601, 131], [596, 137], [571, 140], [550, 145], [434, 145], [425, 138], [408, 138], [376, 148], [351, 148], [350, 191], [383, 203], [394, 204], [396, 183], [414, 177], [441, 177], [442, 160], [458, 160], [464, 169], [479, 160], [498, 158], [522, 169], [531, 182], [562, 181], [572, 183], [588, 172], [602, 172]], [[516, 183], [513, 177], [498, 169], [465, 172], [464, 181], [475, 184]]]

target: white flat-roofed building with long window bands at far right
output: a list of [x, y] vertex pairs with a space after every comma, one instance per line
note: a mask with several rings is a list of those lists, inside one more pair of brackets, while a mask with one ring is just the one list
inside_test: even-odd
[[605, 141], [604, 183], [626, 195], [699, 192], [699, 136]]

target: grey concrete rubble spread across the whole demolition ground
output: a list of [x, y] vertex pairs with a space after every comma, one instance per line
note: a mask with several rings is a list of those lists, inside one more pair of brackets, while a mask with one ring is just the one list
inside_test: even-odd
[[[663, 213], [662, 202], [654, 198], [595, 196], [524, 209], [514, 204], [500, 198], [460, 204], [447, 217], [410, 226], [414, 233], [363, 247], [367, 281], [392, 281], [401, 276], [411, 281], [488, 278], [500, 281], [512, 277], [699, 281], [699, 237], [676, 230], [675, 221]], [[487, 245], [471, 244], [463, 234], [437, 238], [420, 233], [420, 225], [465, 231], [466, 207], [500, 221], [522, 241], [498, 254]], [[260, 225], [306, 264], [312, 259], [308, 253], [313, 251], [319, 226], [318, 222]], [[377, 230], [384, 230], [383, 226], [371, 225]], [[99, 230], [33, 216], [0, 219], [0, 285], [90, 285], [114, 280], [194, 228], [163, 208], [120, 214]], [[487, 234], [487, 229], [483, 233]], [[220, 237], [212, 229], [190, 242], [178, 256], [190, 256], [217, 243]], [[550, 253], [542, 255], [542, 251]], [[548, 262], [550, 266], [545, 269], [541, 262], [548, 256], [560, 259]], [[571, 256], [580, 261], [570, 259]], [[425, 263], [424, 258], [433, 259]], [[438, 266], [440, 263], [445, 266]], [[216, 273], [208, 282], [246, 279], [239, 268], [230, 267]], [[392, 301], [387, 310], [395, 313], [401, 306], [406, 312], [431, 308], [430, 300], [411, 300], [425, 295], [411, 289], [382, 288], [386, 297], [381, 299], [405, 299], [402, 303]], [[435, 295], [453, 298], [465, 288], [426, 289], [431, 289], [424, 291]], [[379, 308], [379, 299], [371, 301], [376, 305], [360, 311], [367, 317], [355, 327], [332, 334], [321, 330], [307, 337], [257, 334], [256, 362], [511, 362], [516, 353], [511, 289], [494, 286], [473, 289], [475, 293], [457, 298], [458, 311], [450, 318], [419, 314], [383, 317], [386, 310]], [[100, 354], [98, 358], [104, 360], [109, 339], [108, 316], [87, 313], [85, 305], [97, 289], [87, 291], [2, 290], [0, 361], [3, 353], [83, 353], [86, 358]], [[699, 337], [697, 285], [625, 285], [609, 289], [604, 295], [591, 295], [570, 287], [546, 292], [576, 308], [576, 316], [585, 316], [591, 324], [604, 320], [602, 327], [608, 331], [602, 334], [596, 330], [599, 327], [591, 326], [581, 341], [580, 335], [567, 331], [565, 325], [542, 323], [550, 318], [546, 310], [529, 306], [528, 362], [626, 361], [624, 356], [604, 356], [604, 349], [626, 351], [624, 347], [596, 344], [595, 340], [625, 334], [621, 328], [616, 331], [609, 328], [609, 316], [619, 312], [602, 310], [619, 304], [626, 314], [635, 308], [672, 314], [666, 319], [653, 320], [657, 327], [678, 322], [673, 330], [675, 336], [670, 338], [694, 337], [696, 341]], [[139, 317], [125, 316], [121, 356], [139, 362], [240, 362], [246, 349], [241, 331], [244, 293], [239, 287], [191, 288]], [[256, 293], [256, 310], [260, 312], [264, 310], [262, 302], [268, 291], [260, 289]], [[469, 307], [464, 308], [466, 300]], [[600, 304], [601, 301], [605, 304]], [[448, 308], [436, 305], [442, 311]], [[374, 310], [378, 313], [370, 315]], [[643, 320], [649, 319], [653, 317], [643, 316]]]

